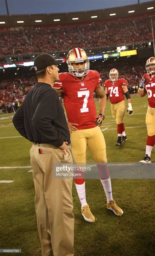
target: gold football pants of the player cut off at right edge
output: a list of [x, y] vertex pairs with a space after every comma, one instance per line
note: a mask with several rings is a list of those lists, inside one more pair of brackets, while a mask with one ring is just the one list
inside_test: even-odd
[[147, 135], [155, 135], [155, 108], [148, 106], [146, 113]]

